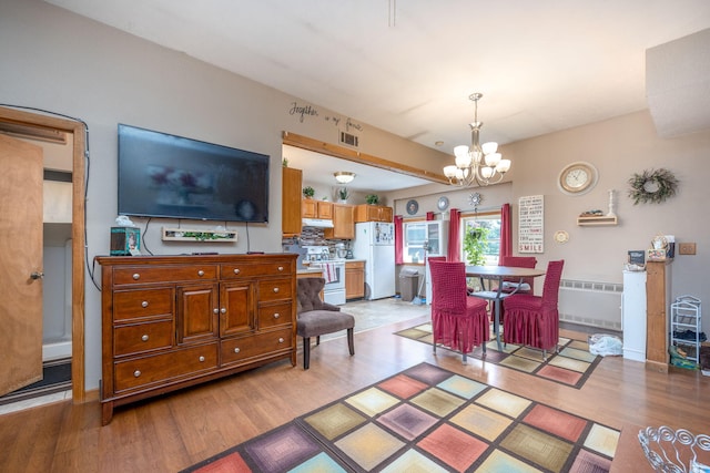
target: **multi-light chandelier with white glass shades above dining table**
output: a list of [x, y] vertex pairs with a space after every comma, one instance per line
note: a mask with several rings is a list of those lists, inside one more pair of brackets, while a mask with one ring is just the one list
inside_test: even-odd
[[483, 122], [478, 121], [478, 100], [481, 96], [484, 96], [481, 93], [468, 96], [476, 105], [474, 122], [469, 124], [471, 146], [460, 145], [454, 148], [456, 165], [444, 167], [444, 175], [449, 184], [487, 186], [499, 183], [503, 175], [510, 169], [510, 160], [503, 160], [498, 153], [498, 143], [488, 142], [481, 145], [479, 142]]

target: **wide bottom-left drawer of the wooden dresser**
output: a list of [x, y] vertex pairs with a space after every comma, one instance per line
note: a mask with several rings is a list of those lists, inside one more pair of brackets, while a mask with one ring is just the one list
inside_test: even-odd
[[215, 370], [217, 367], [217, 343], [135, 360], [118, 361], [113, 367], [116, 392], [164, 383], [173, 379], [178, 380]]

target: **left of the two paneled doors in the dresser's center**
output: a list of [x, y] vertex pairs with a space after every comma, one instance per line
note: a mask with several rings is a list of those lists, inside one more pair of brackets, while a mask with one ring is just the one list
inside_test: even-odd
[[215, 285], [178, 287], [178, 343], [214, 339], [217, 330], [217, 288]]

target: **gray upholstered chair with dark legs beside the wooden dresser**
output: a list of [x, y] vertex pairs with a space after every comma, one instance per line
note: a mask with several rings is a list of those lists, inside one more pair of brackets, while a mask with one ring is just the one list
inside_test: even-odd
[[321, 300], [321, 291], [325, 286], [323, 278], [300, 278], [296, 301], [296, 333], [303, 337], [303, 369], [311, 364], [311, 338], [315, 345], [321, 343], [321, 336], [347, 330], [347, 347], [351, 356], [355, 354], [353, 329], [355, 318], [341, 311], [341, 308]]

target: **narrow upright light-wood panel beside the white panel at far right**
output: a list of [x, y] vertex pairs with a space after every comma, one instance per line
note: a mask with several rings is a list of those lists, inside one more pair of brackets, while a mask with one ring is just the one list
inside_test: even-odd
[[646, 263], [646, 368], [668, 372], [670, 263]]

